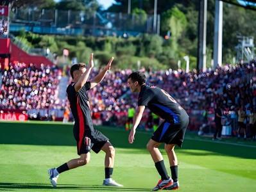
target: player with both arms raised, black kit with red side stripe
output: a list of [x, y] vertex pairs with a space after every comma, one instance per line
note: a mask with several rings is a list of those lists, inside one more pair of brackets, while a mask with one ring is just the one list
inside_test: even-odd
[[51, 184], [56, 187], [57, 179], [60, 173], [79, 166], [88, 164], [90, 161], [90, 150], [92, 149], [96, 154], [103, 150], [105, 155], [105, 180], [103, 186], [117, 186], [123, 187], [112, 179], [115, 150], [108, 138], [100, 131], [94, 129], [92, 125], [92, 118], [90, 113], [90, 102], [87, 91], [99, 84], [107, 74], [114, 60], [112, 57], [108, 65], [99, 74], [88, 81], [90, 70], [94, 67], [93, 54], [90, 54], [89, 67], [85, 64], [74, 64], [71, 67], [70, 73], [73, 82], [67, 87], [67, 98], [71, 104], [71, 111], [74, 116], [74, 138], [77, 142], [77, 152], [80, 156], [78, 159], [71, 159], [67, 163], [62, 164], [58, 168], [51, 168], [48, 170]]

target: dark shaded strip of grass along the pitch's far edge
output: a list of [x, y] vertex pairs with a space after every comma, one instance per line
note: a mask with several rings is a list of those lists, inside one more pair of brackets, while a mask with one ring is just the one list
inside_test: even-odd
[[[97, 127], [103, 132], [114, 147], [118, 148], [137, 148], [141, 152], [148, 152], [146, 144], [151, 138], [148, 132], [137, 131], [135, 141], [131, 145], [128, 142], [129, 131], [119, 127]], [[10, 123], [0, 122], [0, 144], [22, 144], [22, 145], [55, 145], [55, 146], [76, 146], [73, 137], [73, 124], [47, 124], [42, 122], [21, 122]], [[255, 148], [246, 147], [246, 145], [227, 145], [225, 143], [212, 142], [211, 138], [206, 141], [184, 140], [182, 148], [191, 150], [191, 155], [205, 156], [208, 153], [200, 154], [193, 150], [205, 150], [216, 152], [216, 155], [234, 156], [246, 159], [256, 159]], [[141, 150], [142, 149], [142, 150]], [[175, 148], [180, 150], [179, 147]], [[160, 146], [164, 150], [164, 145]]]

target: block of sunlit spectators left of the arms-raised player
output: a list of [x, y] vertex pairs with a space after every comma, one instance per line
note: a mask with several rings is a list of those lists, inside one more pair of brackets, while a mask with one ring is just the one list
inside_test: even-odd
[[62, 77], [58, 67], [41, 65], [36, 68], [32, 63], [10, 63], [1, 77], [1, 109], [42, 109], [58, 108], [58, 84]]

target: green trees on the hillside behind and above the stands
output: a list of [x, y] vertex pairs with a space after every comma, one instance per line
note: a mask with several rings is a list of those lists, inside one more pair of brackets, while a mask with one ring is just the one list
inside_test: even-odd
[[[13, 1], [14, 2], [14, 1]], [[16, 2], [16, 1], [15, 1]], [[53, 0], [17, 1], [13, 6], [58, 9], [58, 10], [87, 10], [87, 12], [123, 12], [128, 11], [128, 0], [115, 0], [108, 8], [103, 8], [96, 0], [62, 0], [56, 3]], [[16, 2], [16, 3], [17, 3]], [[79, 62], [88, 61], [85, 52], [98, 54], [98, 66], [105, 65], [110, 56], [115, 56], [114, 67], [137, 68], [151, 66], [159, 68], [177, 68], [178, 60], [189, 56], [191, 69], [196, 68], [198, 51], [198, 8], [200, 0], [173, 1], [158, 0], [157, 14], [160, 14], [160, 35], [142, 34], [139, 36], [121, 38], [117, 36], [52, 36], [24, 33], [19, 35], [33, 47], [49, 48], [51, 52], [62, 55], [62, 50], [69, 49], [69, 58], [77, 57]], [[133, 14], [153, 14], [155, 0], [131, 0]], [[207, 67], [210, 67], [214, 42], [214, 11], [215, 1], [207, 1]], [[237, 34], [254, 36], [256, 12], [246, 10], [234, 4], [223, 3], [223, 63], [232, 63], [237, 55], [235, 46], [238, 44]], [[255, 18], [255, 19], [254, 19]], [[167, 31], [171, 31], [169, 39], [164, 39]]]

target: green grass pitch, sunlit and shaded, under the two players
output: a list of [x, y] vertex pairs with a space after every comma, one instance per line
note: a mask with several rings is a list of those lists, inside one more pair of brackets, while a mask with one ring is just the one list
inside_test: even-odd
[[[0, 191], [151, 191], [160, 179], [146, 150], [150, 133], [96, 127], [115, 147], [113, 178], [124, 188], [102, 186], [104, 152], [92, 152], [89, 164], [64, 172], [58, 187], [49, 182], [47, 169], [77, 158], [73, 124], [59, 122], [0, 122]], [[166, 168], [170, 174], [164, 145]], [[256, 191], [255, 142], [212, 141], [187, 133], [179, 161], [178, 191]]]

